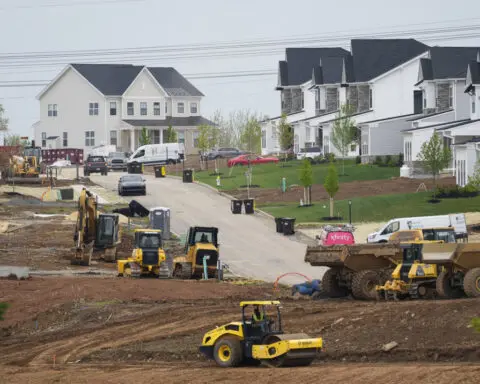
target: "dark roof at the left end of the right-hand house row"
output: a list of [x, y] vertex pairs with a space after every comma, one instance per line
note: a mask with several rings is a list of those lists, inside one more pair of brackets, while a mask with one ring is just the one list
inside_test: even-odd
[[312, 70], [320, 60], [344, 57], [349, 52], [343, 48], [287, 48], [286, 60], [279, 63], [279, 87], [300, 85], [312, 78]]

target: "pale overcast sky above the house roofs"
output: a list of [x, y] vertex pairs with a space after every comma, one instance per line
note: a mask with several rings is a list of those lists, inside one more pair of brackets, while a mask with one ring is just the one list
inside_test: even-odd
[[[121, 54], [109, 62], [173, 66], [182, 74], [266, 72], [190, 81], [206, 96], [202, 114], [207, 118], [216, 110], [226, 115], [242, 109], [277, 116], [280, 95], [275, 91], [275, 72], [287, 46], [348, 49], [351, 37], [388, 37], [392, 31], [429, 45], [480, 46], [480, 1], [456, 4], [445, 0], [0, 0], [0, 104], [10, 120], [9, 130], [31, 135], [31, 126], [39, 117], [36, 95], [43, 86], [2, 85], [50, 81], [69, 61], [12, 59], [5, 57], [8, 54], [184, 45], [188, 50], [176, 47], [175, 57], [157, 50], [148, 61], [145, 55]], [[447, 34], [416, 33], [458, 26], [471, 28]], [[312, 38], [314, 44], [304, 43], [306, 38]], [[259, 40], [276, 41], [260, 48], [244, 45], [247, 48], [238, 51], [239, 44]], [[298, 45], [298, 41], [304, 44]], [[225, 49], [221, 55], [198, 51], [199, 45], [218, 48], [232, 42], [237, 49]], [[188, 53], [196, 57], [178, 57]], [[80, 56], [71, 61], [95, 59]], [[39, 64], [42, 60], [43, 65]], [[101, 60], [105, 62], [105, 56]]]

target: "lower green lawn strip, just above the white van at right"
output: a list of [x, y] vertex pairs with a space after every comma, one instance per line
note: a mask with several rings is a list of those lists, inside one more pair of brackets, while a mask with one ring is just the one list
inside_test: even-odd
[[[431, 204], [431, 193], [412, 193], [401, 195], [381, 195], [358, 197], [352, 201], [352, 222], [388, 221], [395, 217], [413, 217], [442, 215], [447, 213], [480, 211], [480, 196], [461, 199], [442, 199]], [[296, 223], [322, 222], [329, 215], [327, 201], [314, 202], [312, 207], [298, 207], [297, 203], [258, 205], [258, 208], [275, 217], [294, 217]], [[335, 202], [335, 216], [348, 221], [348, 200]]]

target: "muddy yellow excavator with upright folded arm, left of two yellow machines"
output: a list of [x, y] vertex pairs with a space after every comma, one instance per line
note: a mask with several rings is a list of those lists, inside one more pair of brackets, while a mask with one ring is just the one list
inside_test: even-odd
[[78, 199], [77, 223], [73, 240], [73, 265], [90, 265], [94, 249], [101, 250], [100, 258], [115, 261], [117, 246], [121, 242], [118, 214], [98, 214], [97, 197], [86, 188]]

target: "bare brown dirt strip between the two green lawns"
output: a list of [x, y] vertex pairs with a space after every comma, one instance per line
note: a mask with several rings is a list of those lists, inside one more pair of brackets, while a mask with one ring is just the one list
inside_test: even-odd
[[[376, 195], [389, 195], [398, 193], [414, 193], [421, 183], [425, 183], [428, 190], [433, 188], [432, 179], [408, 179], [403, 177], [392, 178], [389, 180], [366, 180], [341, 183], [338, 193], [335, 195], [337, 200], [344, 200], [353, 197], [367, 197]], [[454, 177], [442, 178], [439, 183], [442, 186], [455, 186]], [[229, 191], [229, 194], [235, 197], [243, 198], [245, 190]], [[291, 202], [303, 199], [303, 187], [292, 187], [283, 193], [280, 189], [255, 189], [250, 190], [250, 196], [255, 198], [258, 203]], [[312, 186], [312, 200], [326, 200], [328, 194], [322, 185]]]

